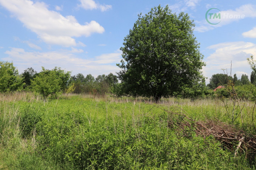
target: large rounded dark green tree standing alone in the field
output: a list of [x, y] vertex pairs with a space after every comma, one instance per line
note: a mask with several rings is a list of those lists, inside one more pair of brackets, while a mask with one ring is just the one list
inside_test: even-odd
[[124, 38], [123, 60], [117, 64], [122, 69], [118, 78], [124, 92], [153, 96], [158, 101], [202, 82], [200, 69], [205, 63], [194, 26], [188, 14], [176, 15], [168, 6], [140, 14]]

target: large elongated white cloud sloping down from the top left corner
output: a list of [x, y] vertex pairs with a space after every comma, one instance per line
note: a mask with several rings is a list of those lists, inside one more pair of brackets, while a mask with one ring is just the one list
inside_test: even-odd
[[18, 18], [25, 27], [49, 44], [75, 46], [77, 44], [73, 37], [88, 37], [92, 33], [105, 31], [96, 21], [80, 25], [74, 16], [64, 17], [56, 11], [50, 11], [43, 2], [0, 0], [0, 4]]

